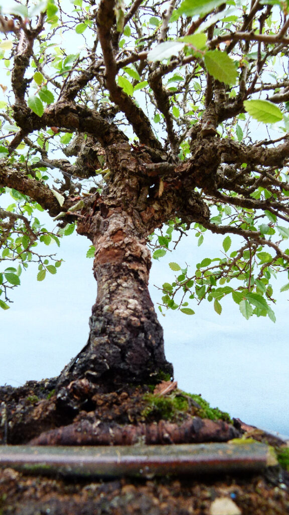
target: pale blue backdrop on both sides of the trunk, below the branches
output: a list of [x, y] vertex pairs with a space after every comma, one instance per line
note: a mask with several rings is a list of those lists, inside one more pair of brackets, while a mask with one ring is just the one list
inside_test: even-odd
[[[5, 83], [6, 77], [0, 77]], [[0, 99], [5, 99], [2, 91]], [[259, 128], [258, 132], [260, 135]], [[207, 236], [197, 247], [192, 235], [183, 238], [174, 253], [154, 261], [150, 280], [153, 301], [160, 300], [153, 284], [161, 286], [173, 279], [166, 264], [176, 261], [184, 266], [186, 261], [194, 269], [201, 259], [217, 255], [222, 240]], [[43, 282], [37, 282], [37, 267], [22, 274], [10, 310], [0, 309], [0, 384], [19, 386], [27, 380], [58, 375], [85, 345], [97, 288], [92, 260], [85, 258], [88, 246], [85, 237], [65, 237], [60, 249], [55, 244], [55, 252], [65, 260], [55, 276], [47, 274]], [[52, 246], [44, 250], [50, 249]], [[283, 274], [279, 289], [285, 282]], [[158, 313], [166, 356], [173, 363], [178, 386], [201, 393], [213, 407], [219, 406], [233, 417], [289, 435], [288, 298], [288, 292], [278, 295], [275, 324], [263, 317], [246, 321], [231, 297], [221, 301], [221, 316], [208, 302], [192, 306], [193, 316], [170, 311], [164, 318]]]

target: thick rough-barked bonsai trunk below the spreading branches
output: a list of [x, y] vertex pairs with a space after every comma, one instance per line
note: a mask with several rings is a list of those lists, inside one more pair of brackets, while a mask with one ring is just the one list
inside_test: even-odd
[[[78, 223], [78, 233], [92, 240], [97, 300], [89, 320], [86, 346], [64, 369], [60, 384], [87, 379], [118, 383], [154, 382], [173, 368], [148, 290], [151, 255], [145, 225], [135, 209], [109, 207], [97, 197]], [[110, 202], [108, 202], [110, 203]]]

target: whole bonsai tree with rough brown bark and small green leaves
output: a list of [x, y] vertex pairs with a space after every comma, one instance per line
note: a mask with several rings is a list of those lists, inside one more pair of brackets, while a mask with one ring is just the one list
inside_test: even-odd
[[279, 0], [2, 4], [0, 194], [10, 204], [0, 209], [0, 306], [31, 263], [39, 281], [57, 272], [61, 258], [43, 256], [39, 242], [59, 245], [76, 228], [94, 254], [88, 342], [59, 386], [172, 376], [148, 281], [149, 247], [161, 258], [174, 230], [194, 231], [199, 246], [207, 231], [224, 235], [223, 254], [194, 272], [170, 263], [160, 312], [192, 315], [208, 300], [220, 314], [229, 296], [245, 318], [275, 321], [271, 278], [289, 259], [286, 9]]

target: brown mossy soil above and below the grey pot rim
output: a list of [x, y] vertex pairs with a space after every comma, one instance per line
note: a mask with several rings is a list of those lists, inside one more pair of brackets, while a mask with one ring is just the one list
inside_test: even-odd
[[[169, 427], [169, 433], [166, 430], [161, 434], [158, 430], [158, 435], [165, 438], [164, 443], [172, 443], [174, 438], [188, 435], [181, 428], [189, 424], [193, 427], [192, 441], [226, 441], [245, 434], [276, 449], [285, 446], [278, 438], [239, 420], [230, 421], [227, 414], [210, 408], [200, 396], [178, 390], [173, 383], [163, 381], [157, 388], [126, 385], [106, 392], [86, 380], [74, 381], [60, 391], [55, 391], [55, 386], [56, 380], [52, 379], [30, 381], [20, 388], [0, 388], [2, 444], [27, 444], [31, 440], [39, 444], [39, 438], [43, 444], [51, 434], [59, 438], [68, 432], [73, 438], [78, 435], [78, 441], [72, 438], [70, 443], [81, 445], [81, 424], [98, 421], [98, 425], [106, 427], [105, 438], [111, 435], [111, 441], [106, 440], [105, 444], [119, 444], [113, 439], [114, 433], [121, 439], [123, 434], [128, 434], [128, 428], [135, 437], [140, 427], [146, 435], [150, 434], [148, 427]], [[204, 440], [201, 434], [205, 435]], [[143, 442], [143, 434], [141, 438]], [[168, 471], [167, 476], [150, 480], [129, 477], [101, 480], [46, 477], [6, 468], [0, 469], [0, 514], [8, 513], [285, 515], [289, 514], [289, 474], [275, 466], [261, 475], [240, 476], [224, 471], [219, 477], [174, 477]]]

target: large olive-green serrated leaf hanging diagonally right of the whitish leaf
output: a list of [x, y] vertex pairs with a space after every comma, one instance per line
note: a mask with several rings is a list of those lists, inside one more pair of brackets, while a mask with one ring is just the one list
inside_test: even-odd
[[234, 61], [221, 50], [208, 50], [204, 56], [206, 68], [210, 75], [225, 84], [235, 84], [238, 72]]

